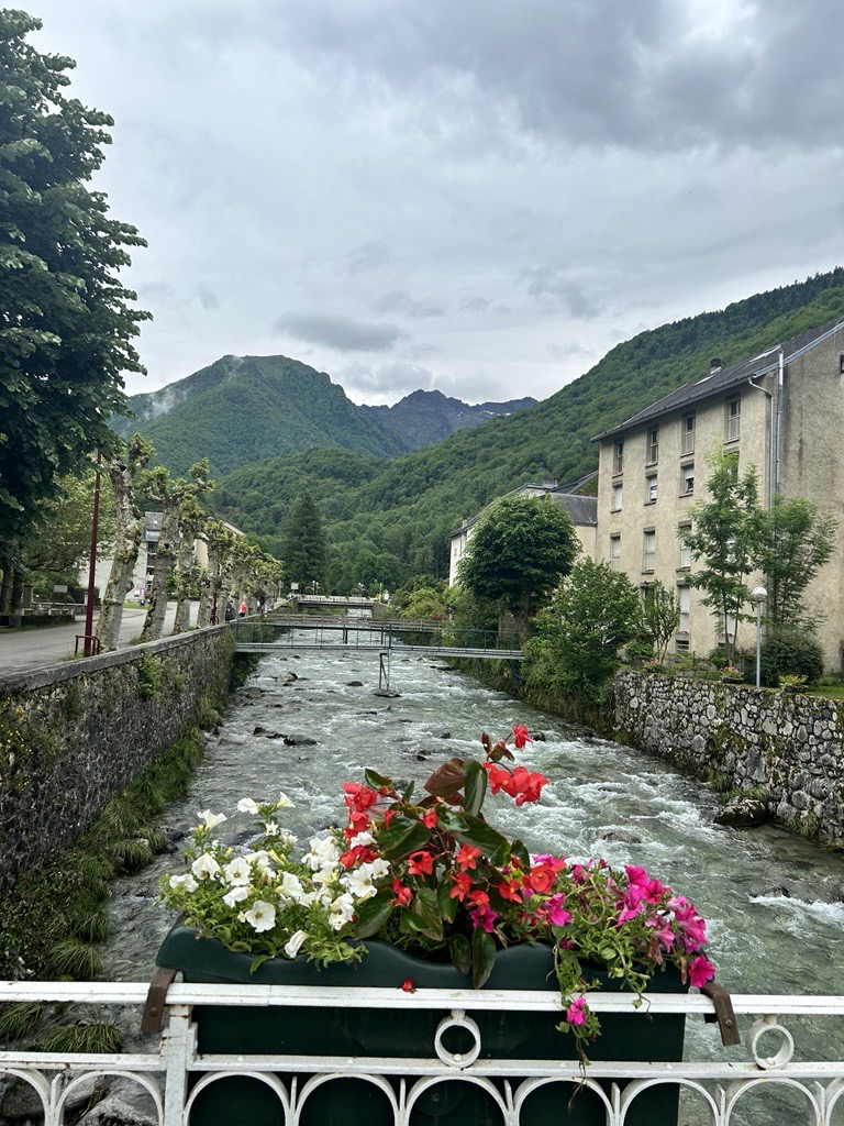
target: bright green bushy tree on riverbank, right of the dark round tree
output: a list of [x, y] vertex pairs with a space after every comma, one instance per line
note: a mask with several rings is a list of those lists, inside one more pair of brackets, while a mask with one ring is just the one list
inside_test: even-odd
[[524, 679], [542, 694], [598, 703], [619, 650], [640, 632], [641, 601], [627, 575], [580, 558], [537, 617], [537, 636], [524, 646]]

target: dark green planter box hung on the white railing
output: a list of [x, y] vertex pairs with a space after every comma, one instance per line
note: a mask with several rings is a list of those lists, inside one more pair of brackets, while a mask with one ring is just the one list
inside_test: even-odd
[[[423, 962], [387, 944], [367, 940], [368, 955], [360, 962], [317, 971], [304, 958], [272, 958], [250, 973], [252, 957], [233, 954], [214, 939], [198, 939], [192, 928], [177, 927], [158, 954], [158, 965], [181, 971], [186, 982], [236, 982], [242, 984], [330, 985], [347, 989], [394, 988], [411, 977], [419, 990], [465, 989], [468, 978], [451, 965]], [[594, 972], [600, 976], [600, 971]], [[514, 946], [500, 951], [487, 982], [488, 989], [556, 989], [548, 948]], [[604, 978], [604, 989], [613, 983]], [[654, 980], [655, 992], [682, 992], [679, 973], [668, 967]], [[223, 1008], [195, 1010], [200, 1053], [257, 1055], [331, 1055], [348, 1057], [399, 1056], [436, 1058], [437, 1027], [443, 1013], [420, 1009], [300, 1009]], [[478, 1012], [481, 1058], [576, 1060], [574, 1038], [557, 1030], [562, 1013]], [[590, 1045], [590, 1058], [682, 1058], [685, 1018], [649, 1018], [644, 1011], [608, 1013], [602, 1035]], [[458, 1030], [452, 1030], [457, 1033]], [[464, 1051], [448, 1039], [450, 1051]], [[307, 1076], [297, 1080], [299, 1092]], [[290, 1090], [294, 1075], [280, 1071], [278, 1079]], [[394, 1089], [399, 1080], [390, 1079]], [[412, 1084], [408, 1078], [408, 1087]], [[518, 1084], [518, 1080], [514, 1081]], [[496, 1081], [499, 1089], [503, 1081]], [[609, 1087], [609, 1084], [607, 1084]], [[594, 1092], [580, 1090], [572, 1099], [568, 1083], [549, 1083], [530, 1094], [522, 1108], [522, 1126], [601, 1126], [605, 1112]], [[628, 1126], [675, 1126], [677, 1088], [662, 1085], [640, 1094], [625, 1119]], [[360, 1079], [338, 1078], [317, 1087], [306, 1099], [300, 1126], [388, 1126], [393, 1111], [383, 1091]], [[501, 1111], [477, 1085], [455, 1079], [429, 1088], [414, 1105], [412, 1126], [497, 1126]], [[197, 1098], [191, 1126], [281, 1126], [284, 1109], [269, 1088], [248, 1076], [213, 1082]]]

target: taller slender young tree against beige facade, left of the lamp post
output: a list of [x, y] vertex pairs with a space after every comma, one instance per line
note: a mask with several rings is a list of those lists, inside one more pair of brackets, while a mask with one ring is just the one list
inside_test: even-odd
[[758, 502], [756, 467], [738, 474], [738, 457], [716, 449], [709, 457], [709, 500], [692, 508], [693, 524], [680, 529], [680, 537], [702, 565], [689, 581], [702, 590], [703, 602], [724, 633], [727, 660], [736, 643], [736, 628], [751, 597], [747, 577], [756, 569], [762, 542], [763, 511]]

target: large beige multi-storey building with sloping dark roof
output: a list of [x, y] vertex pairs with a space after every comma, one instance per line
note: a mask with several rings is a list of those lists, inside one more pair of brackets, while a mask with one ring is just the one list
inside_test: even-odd
[[[680, 530], [706, 497], [708, 454], [719, 446], [738, 456], [739, 473], [755, 465], [760, 499], [802, 497], [841, 517], [844, 507], [844, 321], [829, 322], [724, 367], [712, 360], [701, 378], [599, 435], [598, 545], [643, 588], [659, 580], [680, 597], [677, 652], [709, 653], [722, 637], [688, 584], [693, 571]], [[751, 586], [764, 586], [752, 575]], [[807, 592], [810, 613], [825, 617], [818, 636], [828, 669], [844, 649], [844, 521], [835, 552]], [[731, 628], [731, 623], [727, 626]], [[755, 643], [755, 626], [737, 627], [739, 647]]]

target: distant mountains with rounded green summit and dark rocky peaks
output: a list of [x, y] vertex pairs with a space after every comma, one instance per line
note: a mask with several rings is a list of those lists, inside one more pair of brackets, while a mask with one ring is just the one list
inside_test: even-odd
[[359, 406], [324, 372], [286, 356], [224, 356], [160, 391], [129, 397], [133, 419], [115, 418], [126, 438], [140, 430], [156, 464], [183, 475], [200, 457], [212, 474], [327, 446], [378, 458], [438, 441], [461, 427], [535, 403], [468, 406], [417, 391], [395, 406]]

